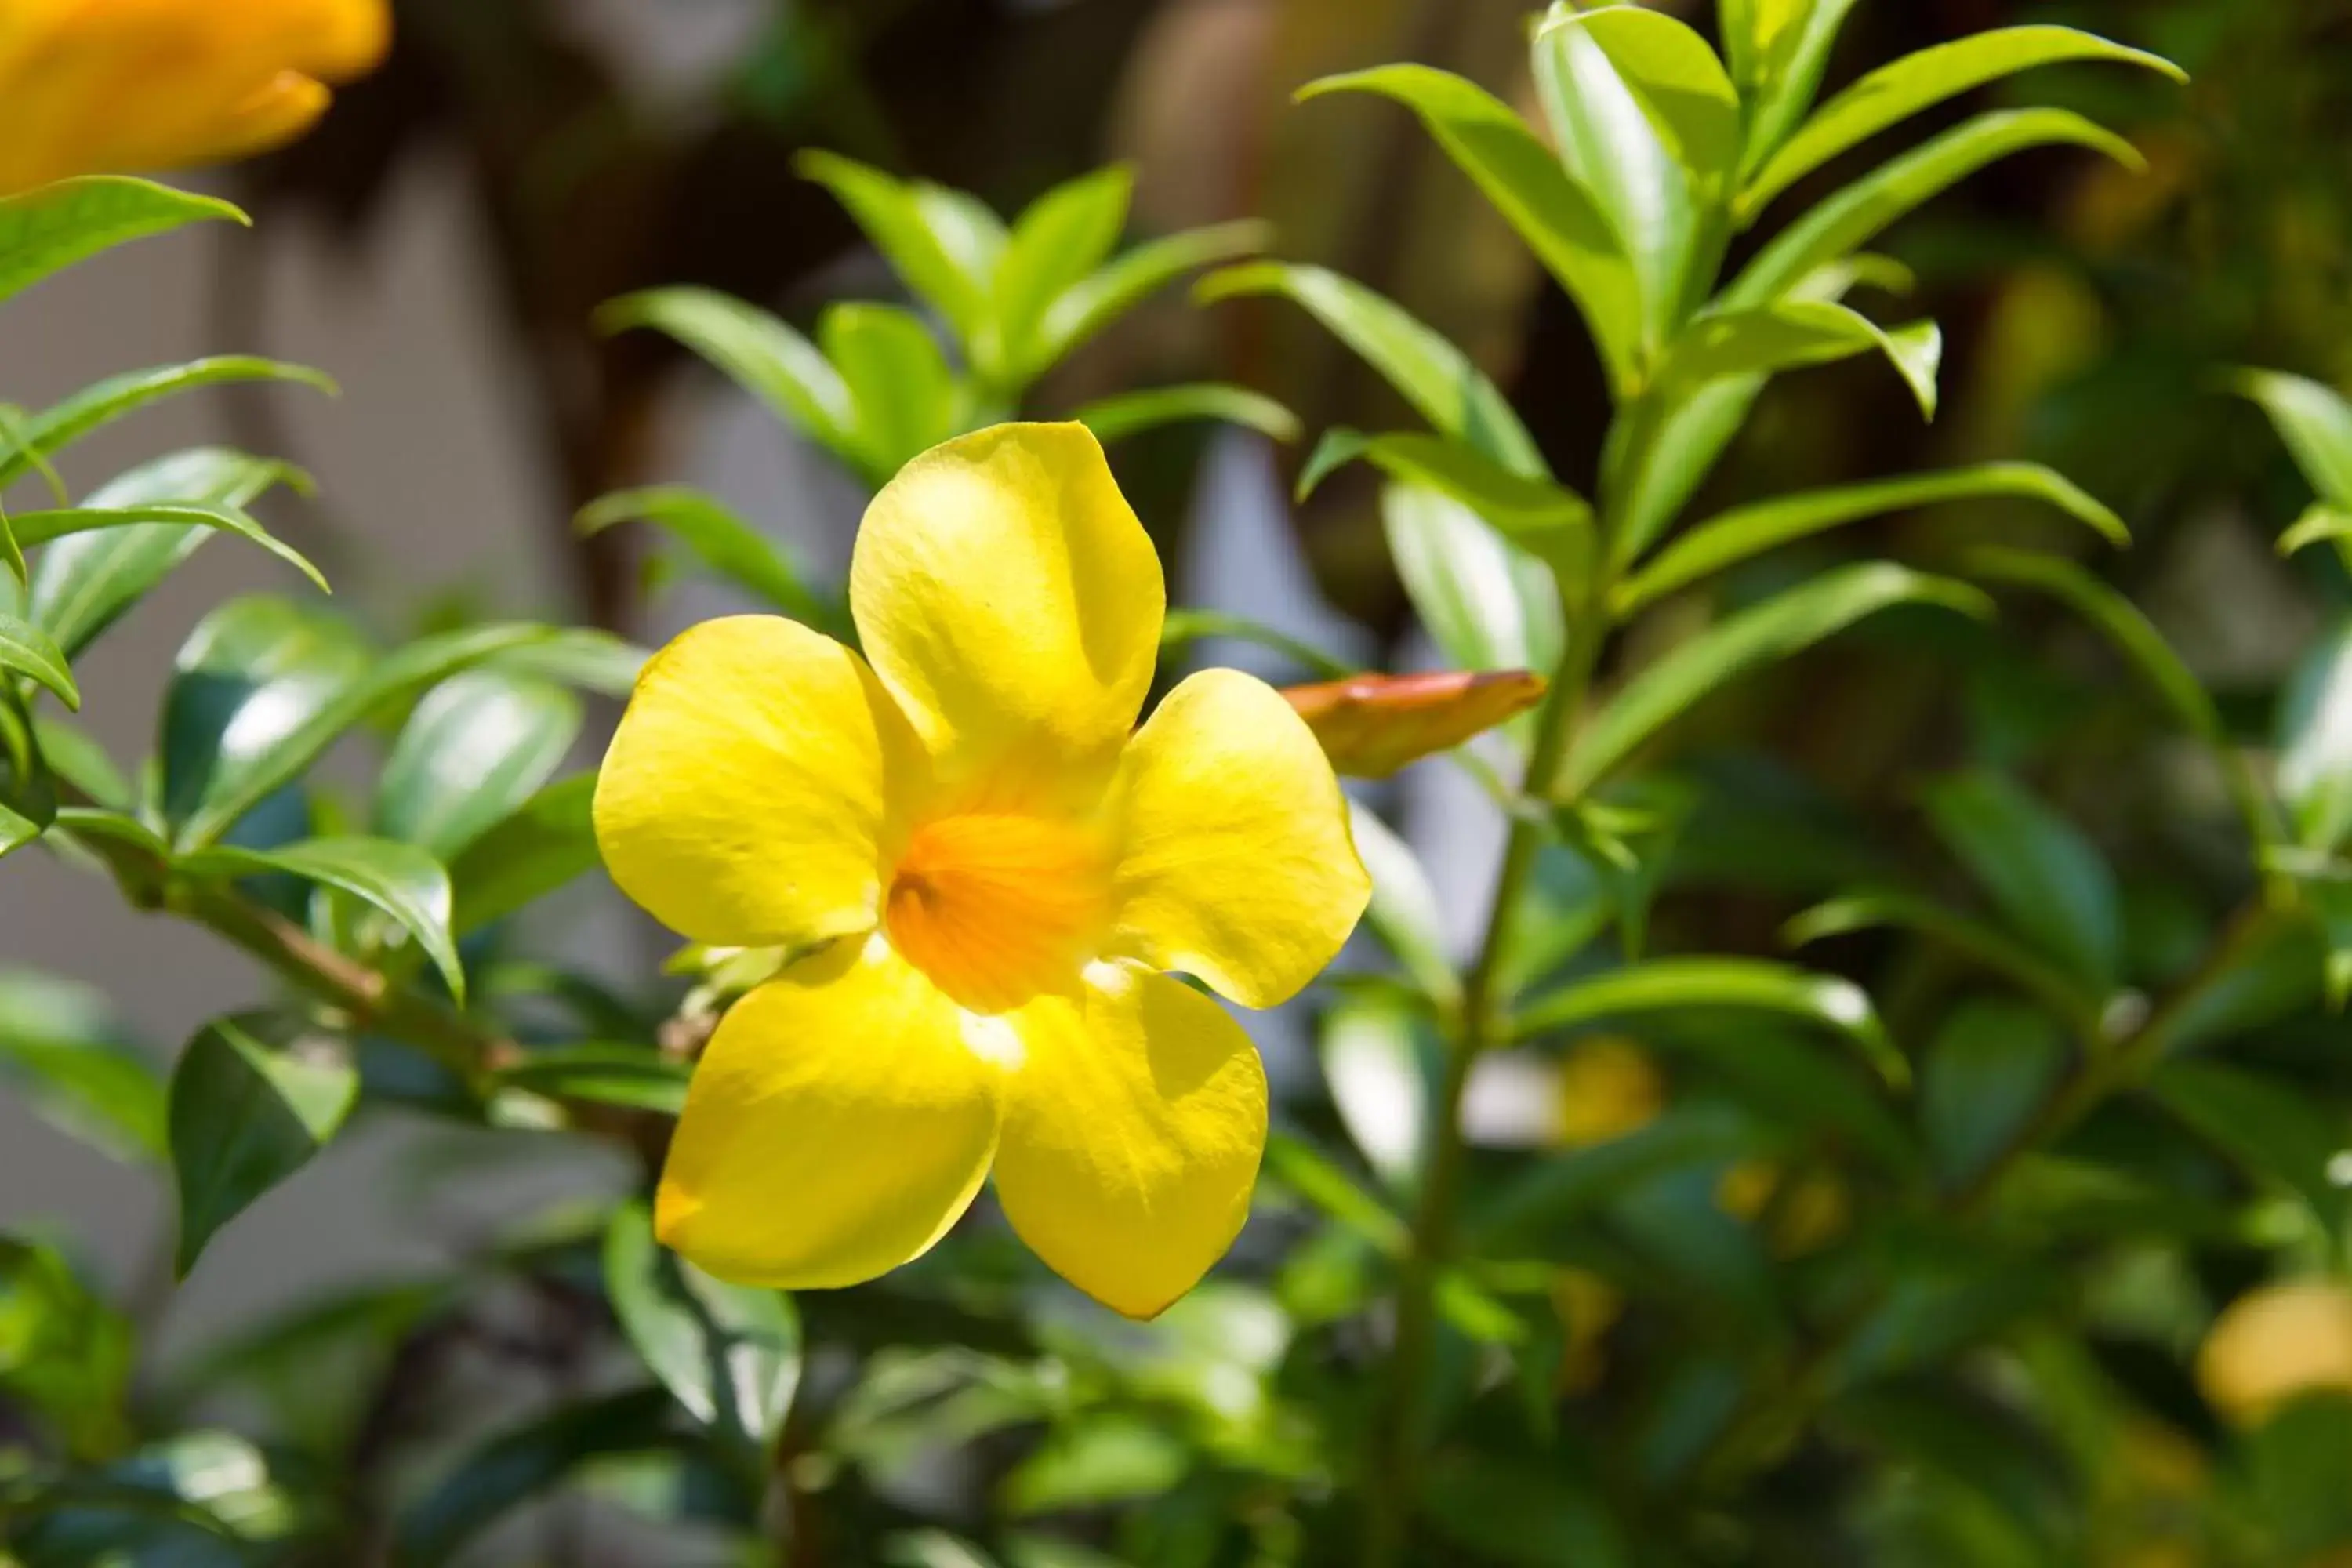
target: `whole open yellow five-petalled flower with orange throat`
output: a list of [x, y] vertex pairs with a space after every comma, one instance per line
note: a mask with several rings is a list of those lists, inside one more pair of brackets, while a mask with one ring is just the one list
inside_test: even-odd
[[1249, 1037], [1162, 971], [1272, 1006], [1338, 952], [1371, 889], [1331, 764], [1232, 670], [1131, 729], [1164, 588], [1082, 425], [908, 463], [849, 604], [866, 658], [771, 616], [682, 635], [597, 780], [630, 898], [701, 943], [814, 950], [720, 1020], [661, 1239], [847, 1286], [920, 1258], [993, 1168], [1030, 1248], [1152, 1316], [1232, 1244], [1265, 1147]]

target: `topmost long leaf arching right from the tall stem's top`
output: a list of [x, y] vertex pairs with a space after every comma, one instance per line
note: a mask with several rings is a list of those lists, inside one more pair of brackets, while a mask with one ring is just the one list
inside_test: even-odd
[[2018, 71], [2079, 59], [2129, 61], [2159, 71], [2176, 82], [2187, 80], [2180, 66], [2159, 54], [2126, 49], [2124, 45], [2074, 28], [2025, 26], [1973, 33], [1879, 66], [1823, 103], [1795, 136], [1780, 143], [1748, 188], [1740, 190], [1738, 212], [1743, 219], [1762, 212], [1766, 202], [1820, 165], [1912, 118], [1922, 108]]

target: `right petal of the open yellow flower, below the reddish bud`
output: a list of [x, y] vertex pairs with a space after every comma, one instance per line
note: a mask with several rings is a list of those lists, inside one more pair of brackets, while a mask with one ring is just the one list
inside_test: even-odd
[[1371, 900], [1331, 764], [1265, 682], [1204, 670], [1136, 731], [1112, 785], [1117, 947], [1244, 1006], [1294, 997]]

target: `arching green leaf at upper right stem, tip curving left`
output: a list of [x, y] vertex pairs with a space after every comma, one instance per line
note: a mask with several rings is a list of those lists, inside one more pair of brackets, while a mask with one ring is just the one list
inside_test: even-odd
[[[1616, 386], [1630, 386], [1639, 364], [1642, 284], [1625, 240], [1609, 214], [1508, 103], [1451, 71], [1376, 66], [1327, 75], [1298, 89], [1298, 101], [1334, 92], [1374, 92], [1404, 103], [1446, 158], [1494, 202], [1526, 240], [1592, 331]], [[1432, 421], [1435, 423], [1435, 421]]]

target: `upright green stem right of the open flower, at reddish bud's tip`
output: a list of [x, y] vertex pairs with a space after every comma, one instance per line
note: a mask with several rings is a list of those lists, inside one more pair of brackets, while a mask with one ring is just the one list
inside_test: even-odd
[[[1569, 644], [1552, 675], [1552, 689], [1536, 715], [1536, 743], [1529, 752], [1526, 783], [1522, 788], [1526, 799], [1550, 799], [1566, 762], [1569, 743], [1576, 736], [1576, 715], [1585, 705], [1585, 691], [1592, 684], [1592, 670], [1609, 635], [1604, 609], [1609, 602], [1606, 576], [1597, 571], [1583, 602], [1569, 607]], [[1510, 957], [1517, 912], [1541, 849], [1543, 830], [1536, 820], [1526, 813], [1512, 816], [1494, 905], [1486, 912], [1486, 936], [1479, 943], [1470, 973], [1463, 978], [1463, 999], [1454, 1039], [1449, 1041], [1451, 1048], [1446, 1051], [1444, 1084], [1437, 1091], [1435, 1147], [1430, 1150], [1430, 1168], [1421, 1185], [1421, 1201], [1414, 1208], [1414, 1227], [1399, 1265], [1397, 1340], [1388, 1359], [1388, 1378], [1374, 1427], [1376, 1450], [1364, 1523], [1367, 1568], [1395, 1568], [1404, 1561], [1414, 1497], [1421, 1490], [1421, 1418], [1430, 1352], [1437, 1338], [1437, 1281], [1454, 1246], [1454, 1208], [1461, 1194], [1463, 1161], [1468, 1159], [1461, 1124], [1463, 1093], [1470, 1088], [1472, 1063], [1498, 1039], [1498, 1001], [1505, 1001], [1498, 997], [1503, 961]]]

